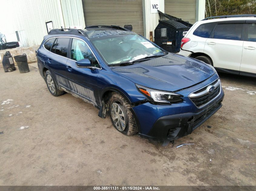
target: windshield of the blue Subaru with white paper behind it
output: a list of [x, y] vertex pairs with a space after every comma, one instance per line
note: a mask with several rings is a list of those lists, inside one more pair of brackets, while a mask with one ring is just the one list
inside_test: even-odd
[[108, 65], [132, 62], [147, 56], [167, 53], [135, 33], [118, 34], [90, 39]]

